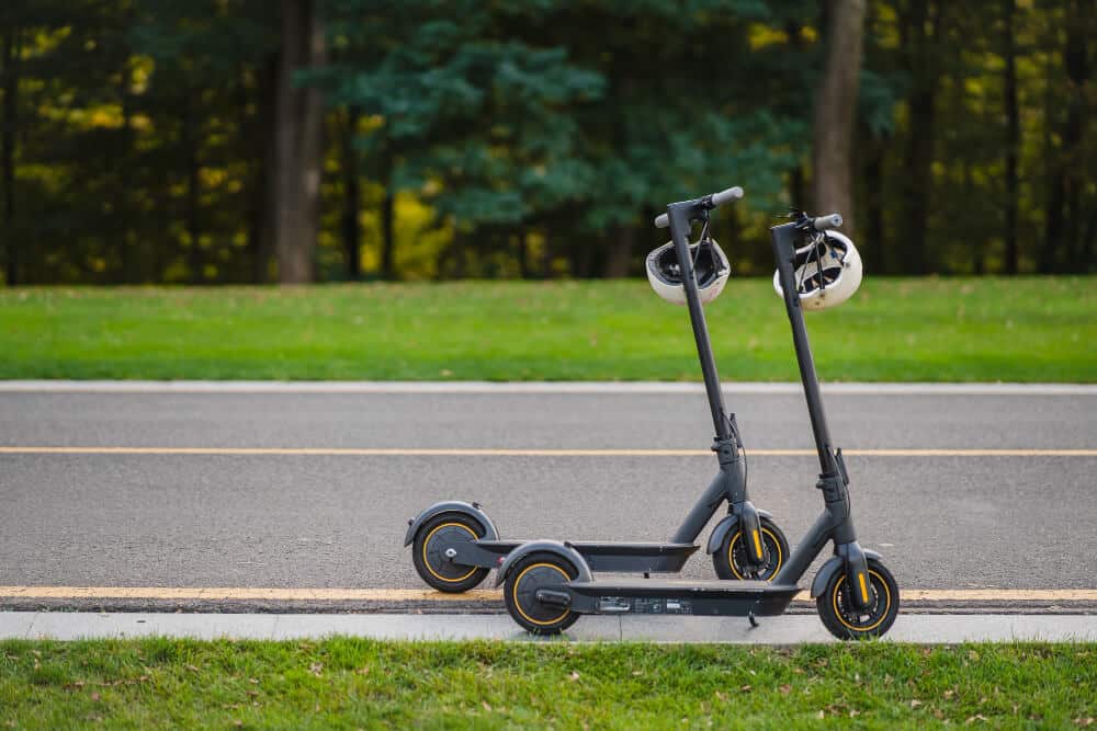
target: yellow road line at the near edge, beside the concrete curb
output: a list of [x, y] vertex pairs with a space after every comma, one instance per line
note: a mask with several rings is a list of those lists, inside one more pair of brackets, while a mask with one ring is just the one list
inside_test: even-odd
[[[907, 589], [906, 602], [1097, 602], [1097, 589]], [[203, 602], [498, 602], [502, 593], [428, 589], [263, 589], [186, 586], [0, 586], [0, 599], [190, 599]], [[808, 601], [801, 592], [798, 601]]]

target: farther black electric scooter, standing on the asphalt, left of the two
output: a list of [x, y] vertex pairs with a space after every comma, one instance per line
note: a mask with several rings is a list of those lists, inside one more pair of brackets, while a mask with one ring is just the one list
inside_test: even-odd
[[[709, 207], [740, 197], [743, 189], [728, 189], [708, 196], [706, 203], [699, 204], [695, 212], [706, 214]], [[675, 230], [671, 229], [671, 232]], [[687, 236], [688, 222], [680, 224], [677, 231], [681, 237]], [[682, 256], [681, 251], [679, 256]], [[685, 251], [688, 252], [688, 249]], [[686, 258], [689, 259], [688, 253]], [[716, 453], [720, 472], [669, 541], [572, 541], [567, 544], [568, 555], [579, 557], [581, 566], [593, 571], [679, 572], [687, 559], [700, 548], [694, 541], [701, 530], [726, 501], [727, 515], [713, 528], [706, 547], [716, 575], [721, 579], [768, 581], [787, 564], [789, 542], [772, 515], [756, 509], [747, 498], [743, 442], [735, 414], [728, 414], [724, 408], [692, 265], [686, 281], [689, 283], [686, 292], [690, 320], [716, 430], [712, 449]], [[449, 501], [436, 503], [408, 521], [404, 545], [412, 546], [411, 558], [425, 582], [439, 591], [457, 593], [478, 585], [491, 569], [513, 566], [512, 551], [531, 544], [502, 540], [478, 503]]]

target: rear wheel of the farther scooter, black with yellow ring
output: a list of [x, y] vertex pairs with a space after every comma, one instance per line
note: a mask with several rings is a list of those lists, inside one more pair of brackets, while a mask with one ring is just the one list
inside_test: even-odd
[[411, 560], [419, 576], [440, 592], [460, 594], [479, 585], [490, 569], [454, 563], [444, 550], [456, 541], [473, 541], [487, 532], [462, 513], [436, 515], [420, 526], [411, 544]]

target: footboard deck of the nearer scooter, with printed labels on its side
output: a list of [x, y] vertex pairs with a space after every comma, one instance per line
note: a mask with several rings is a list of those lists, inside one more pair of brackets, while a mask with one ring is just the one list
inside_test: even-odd
[[795, 584], [765, 581], [573, 581], [570, 607], [580, 614], [674, 614], [758, 617], [783, 614]]

